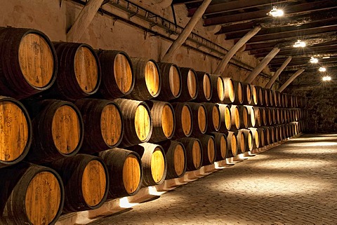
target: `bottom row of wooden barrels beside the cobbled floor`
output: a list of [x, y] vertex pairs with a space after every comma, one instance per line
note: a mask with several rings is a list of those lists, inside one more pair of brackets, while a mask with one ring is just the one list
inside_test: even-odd
[[46, 165], [2, 168], [2, 224], [53, 224], [60, 214], [92, 210], [105, 200], [136, 194], [142, 186], [182, 177], [238, 154], [297, 135], [303, 123], [211, 132], [207, 135], [77, 154]]

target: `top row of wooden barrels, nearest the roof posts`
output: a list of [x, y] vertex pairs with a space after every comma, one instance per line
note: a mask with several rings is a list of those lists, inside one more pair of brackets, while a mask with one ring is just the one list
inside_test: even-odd
[[94, 50], [84, 43], [51, 42], [35, 29], [0, 28], [0, 95], [22, 99], [216, 102], [304, 107], [305, 98], [172, 63]]

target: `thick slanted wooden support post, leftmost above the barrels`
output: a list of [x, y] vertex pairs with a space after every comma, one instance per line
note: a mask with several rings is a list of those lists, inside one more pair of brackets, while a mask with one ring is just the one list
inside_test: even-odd
[[74, 24], [67, 33], [67, 41], [77, 42], [81, 39], [81, 36], [86, 32], [86, 29], [90, 25], [91, 21], [95, 17], [98, 8], [102, 6], [104, 0], [89, 0], [86, 6], [82, 8], [81, 12], [77, 16]]

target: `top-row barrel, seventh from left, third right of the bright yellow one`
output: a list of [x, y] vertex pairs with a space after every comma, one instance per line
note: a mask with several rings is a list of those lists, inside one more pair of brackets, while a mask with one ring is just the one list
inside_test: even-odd
[[213, 87], [211, 83], [211, 76], [209, 73], [203, 71], [197, 71], [198, 79], [198, 95], [195, 101], [197, 102], [209, 102], [213, 95]]

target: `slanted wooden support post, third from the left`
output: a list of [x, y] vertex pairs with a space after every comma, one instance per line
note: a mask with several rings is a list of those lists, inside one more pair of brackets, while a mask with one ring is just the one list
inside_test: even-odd
[[245, 36], [242, 37], [237, 43], [230, 48], [228, 53], [223, 57], [223, 60], [218, 64], [218, 68], [216, 68], [216, 71], [214, 71], [214, 74], [223, 74], [223, 71], [227, 67], [228, 62], [230, 62], [230, 59], [237, 53], [237, 50], [239, 50], [244, 44], [249, 41], [255, 34], [258, 34], [261, 27], [255, 27], [254, 29], [251, 29]]

